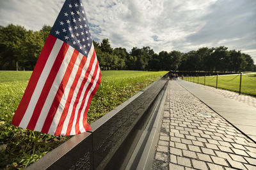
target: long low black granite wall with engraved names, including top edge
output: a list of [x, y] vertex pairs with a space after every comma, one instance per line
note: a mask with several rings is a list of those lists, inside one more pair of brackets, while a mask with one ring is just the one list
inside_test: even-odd
[[166, 77], [94, 122], [92, 131], [63, 143], [28, 169], [122, 169], [150, 118], [150, 106], [167, 85]]

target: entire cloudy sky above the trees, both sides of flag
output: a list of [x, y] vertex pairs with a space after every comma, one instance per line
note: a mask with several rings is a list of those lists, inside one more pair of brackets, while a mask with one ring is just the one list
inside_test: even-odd
[[[255, 0], [82, 0], [92, 38], [112, 47], [189, 52], [227, 46], [256, 64]], [[53, 25], [63, 0], [0, 0], [0, 25], [38, 31]]]

